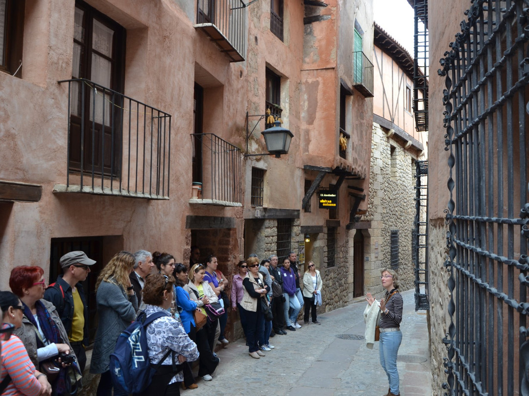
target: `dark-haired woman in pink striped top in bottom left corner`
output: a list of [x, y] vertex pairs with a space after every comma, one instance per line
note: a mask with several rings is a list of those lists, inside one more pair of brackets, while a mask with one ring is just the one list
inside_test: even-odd
[[[11, 292], [0, 292], [0, 309], [3, 313], [3, 324], [0, 329], [0, 340], [2, 341], [0, 394], [50, 395], [51, 385], [47, 377], [35, 370], [35, 365], [31, 362], [20, 338], [11, 335], [14, 329], [22, 326], [24, 316], [22, 302]], [[7, 376], [10, 379], [5, 380]]]

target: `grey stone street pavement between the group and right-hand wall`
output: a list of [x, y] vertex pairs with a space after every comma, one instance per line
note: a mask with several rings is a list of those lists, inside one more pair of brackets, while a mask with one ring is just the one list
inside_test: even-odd
[[[415, 312], [414, 291], [403, 294], [404, 312], [397, 367], [402, 396], [432, 394], [426, 313]], [[379, 296], [377, 296], [379, 297]], [[318, 315], [321, 325], [287, 331], [270, 338], [276, 348], [259, 360], [248, 356], [244, 339], [218, 351], [221, 364], [213, 381], [197, 379], [198, 389], [185, 396], [382, 396], [387, 377], [378, 357], [378, 342], [368, 349], [363, 340], [363, 310], [357, 299], [348, 307]]]

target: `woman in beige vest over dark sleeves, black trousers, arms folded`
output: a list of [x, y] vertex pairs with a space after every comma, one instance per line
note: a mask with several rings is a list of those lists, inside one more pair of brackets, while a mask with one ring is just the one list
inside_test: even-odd
[[268, 286], [259, 273], [259, 259], [249, 257], [247, 260], [249, 273], [242, 281], [244, 286], [241, 308], [247, 318], [246, 340], [248, 341], [248, 354], [254, 359], [259, 359], [265, 354], [259, 349], [259, 339], [263, 339], [265, 332], [265, 317], [261, 310], [261, 298], [266, 298]]

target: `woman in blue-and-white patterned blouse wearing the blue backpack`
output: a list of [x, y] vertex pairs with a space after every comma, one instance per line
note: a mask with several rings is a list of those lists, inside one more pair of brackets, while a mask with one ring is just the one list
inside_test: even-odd
[[[143, 301], [147, 304], [147, 316], [171, 307], [174, 284], [175, 278], [171, 275], [152, 274], [147, 277], [142, 290]], [[180, 321], [169, 314], [154, 319], [149, 325], [147, 346], [151, 365], [161, 365], [142, 395], [178, 396], [179, 383], [184, 380], [184, 376], [174, 362], [184, 364], [198, 359], [197, 346], [186, 334]], [[183, 367], [180, 366], [181, 368]]]

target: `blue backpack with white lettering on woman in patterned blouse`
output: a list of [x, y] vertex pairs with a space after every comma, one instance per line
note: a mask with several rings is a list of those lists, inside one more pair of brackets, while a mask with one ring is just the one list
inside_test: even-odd
[[[110, 355], [110, 375], [114, 392], [141, 393], [152, 381], [156, 367], [151, 367], [147, 346], [147, 326], [154, 320], [169, 316], [167, 311], [158, 311], [149, 316], [141, 312], [129, 327], [117, 338], [114, 353]], [[160, 364], [171, 353], [171, 349], [160, 360]]]

